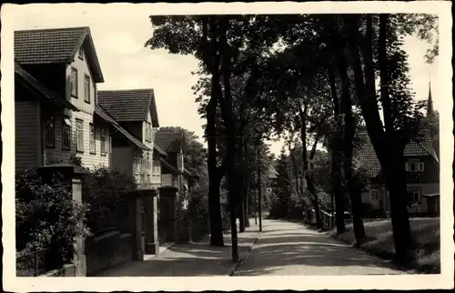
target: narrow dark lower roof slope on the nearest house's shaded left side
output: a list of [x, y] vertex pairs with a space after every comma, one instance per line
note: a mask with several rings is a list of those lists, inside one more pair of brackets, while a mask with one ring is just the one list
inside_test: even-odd
[[26, 72], [25, 69], [17, 62], [15, 62], [15, 76], [18, 77], [16, 79], [18, 82], [30, 89], [32, 92], [36, 93], [39, 97], [44, 98], [46, 101], [78, 111], [76, 106], [41, 84], [34, 76], [31, 76], [28, 72]]

